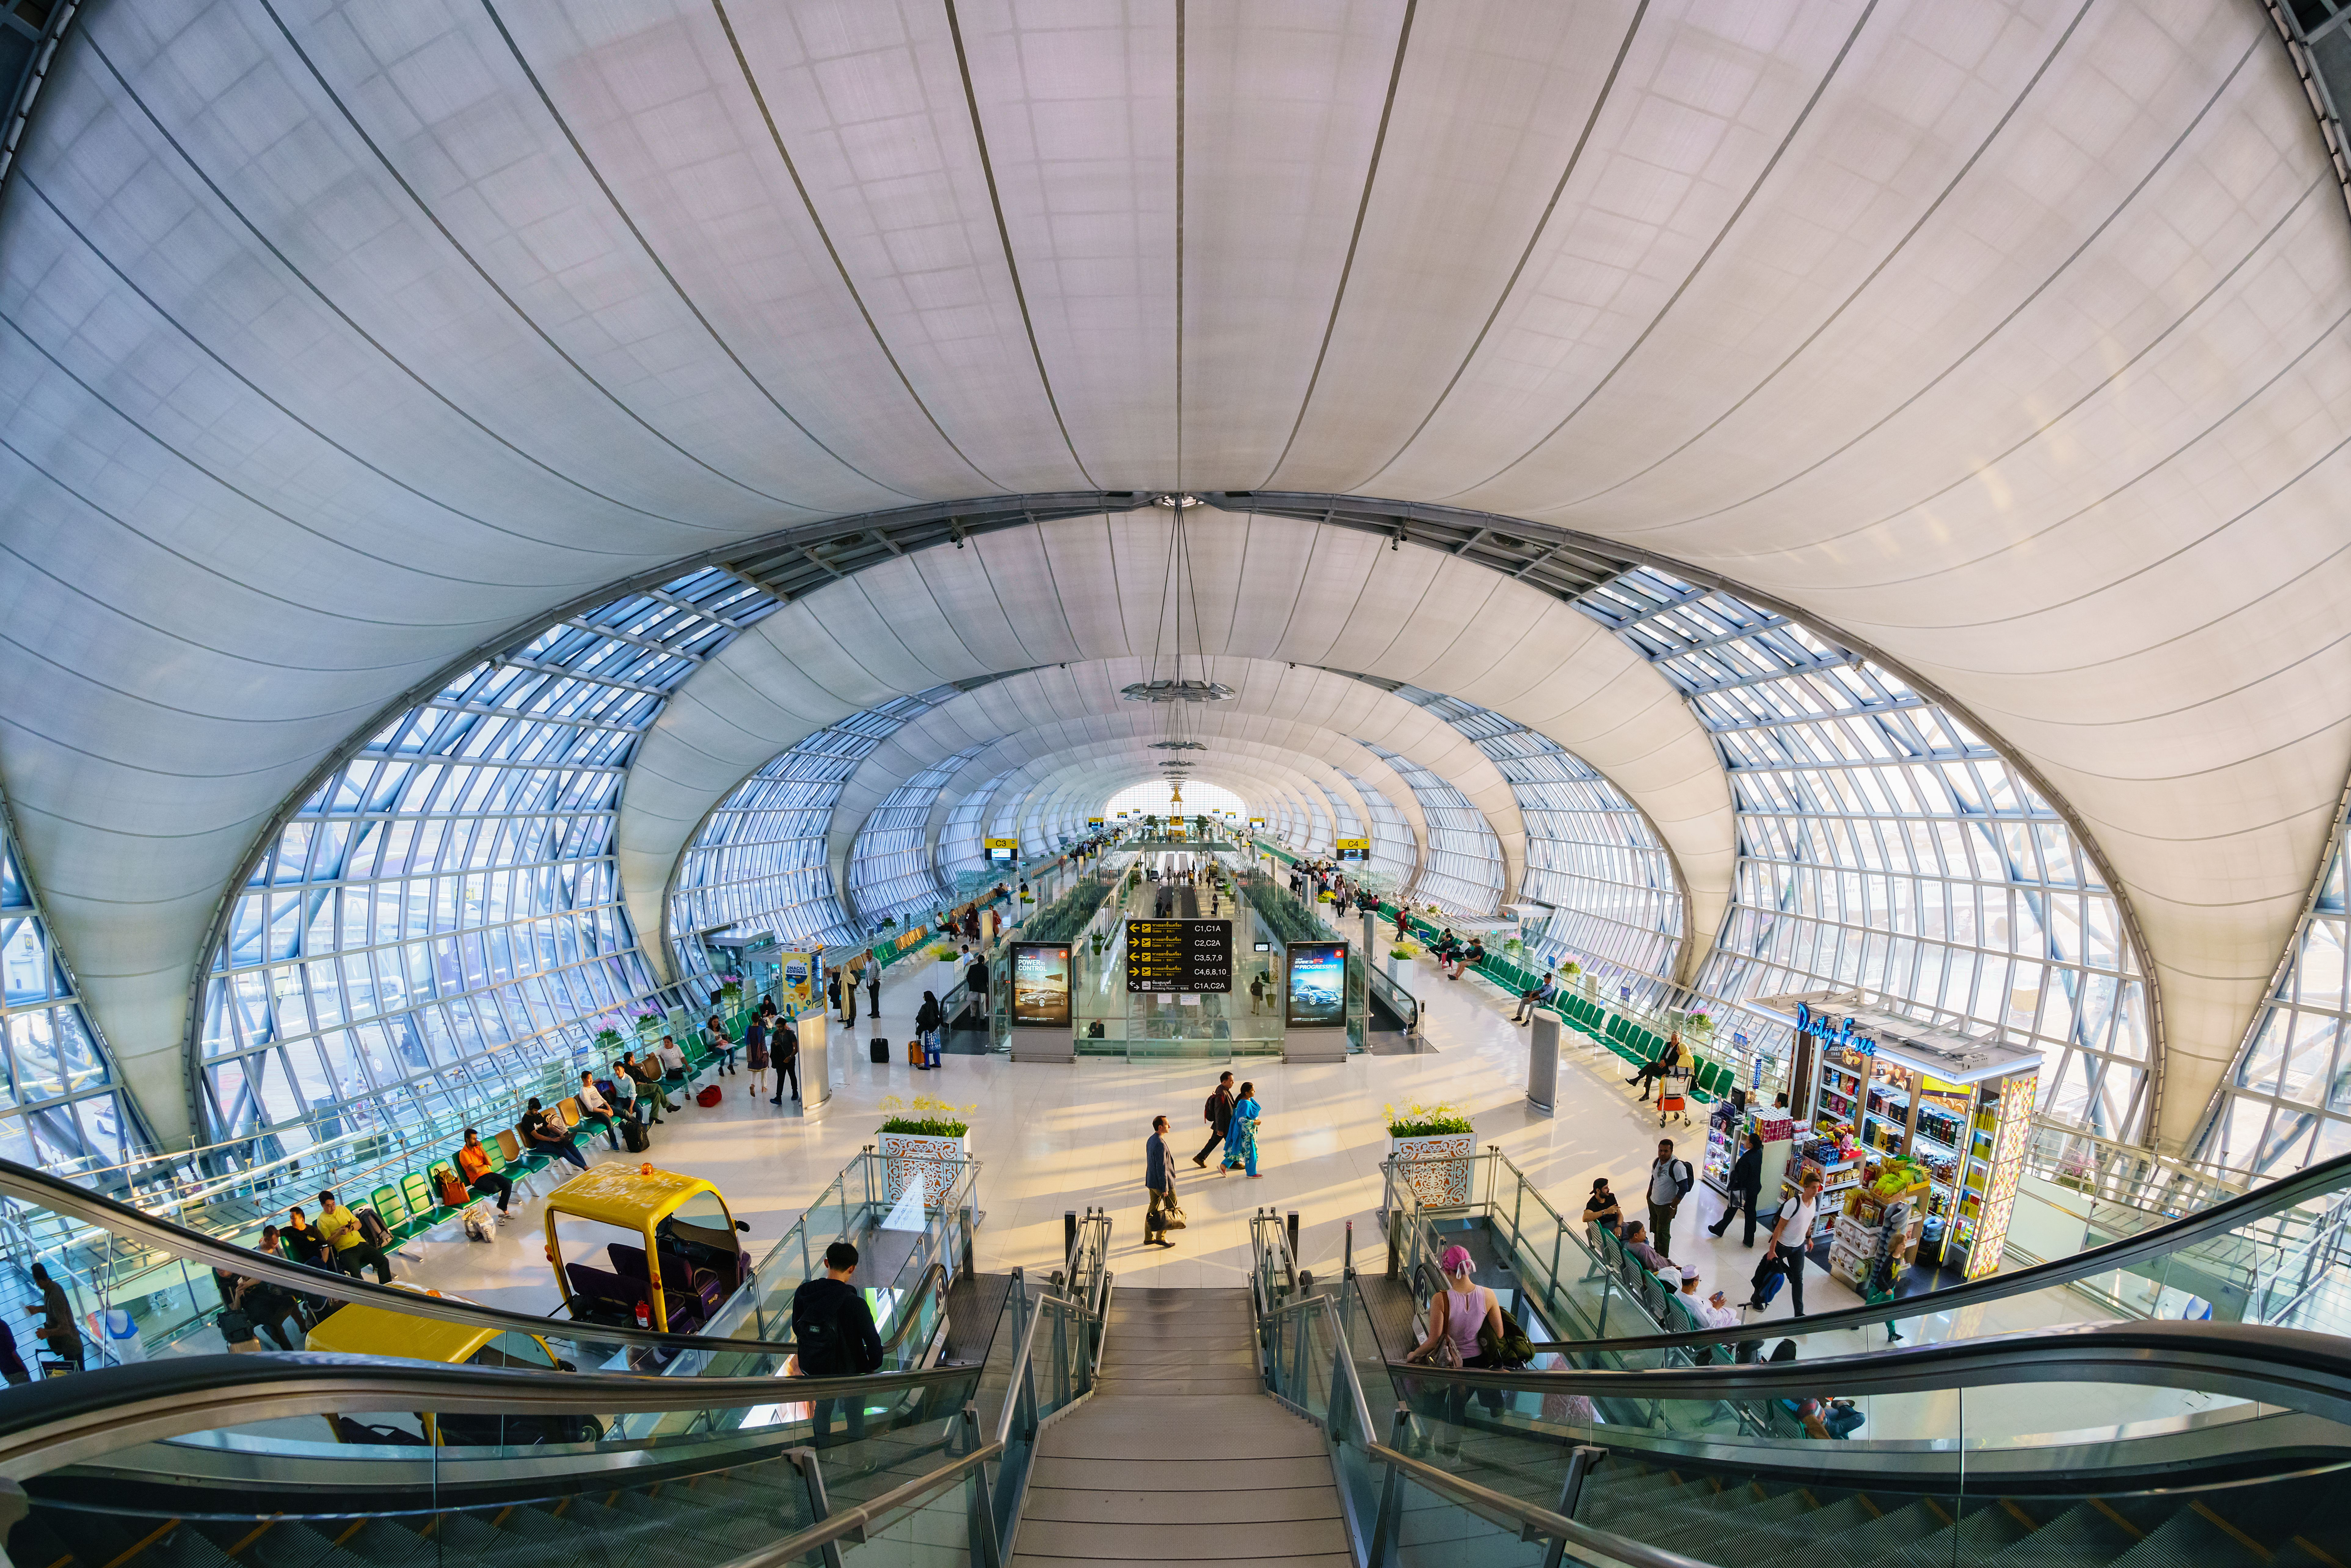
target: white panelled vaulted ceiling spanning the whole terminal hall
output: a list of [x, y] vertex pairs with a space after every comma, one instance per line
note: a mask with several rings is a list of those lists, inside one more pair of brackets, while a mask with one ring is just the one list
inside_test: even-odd
[[[0, 773], [96, 1020], [176, 1063], [277, 806], [600, 585], [907, 501], [1441, 501], [1963, 703], [2137, 910], [2177, 1138], [2351, 771], [2346, 315], [2252, 0], [96, 5], [0, 216]], [[987, 534], [738, 639], [642, 748], [639, 917], [813, 726], [1098, 698], [1164, 531]], [[1495, 708], [1712, 931], [1728, 790], [1615, 637], [1418, 545], [1199, 531], [1248, 722], [1352, 736], [1305, 693], [1371, 689], [1310, 665]], [[1114, 717], [1049, 686], [964, 745]]]

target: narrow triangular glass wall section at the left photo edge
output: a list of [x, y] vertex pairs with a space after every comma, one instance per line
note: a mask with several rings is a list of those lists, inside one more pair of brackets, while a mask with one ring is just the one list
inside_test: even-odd
[[[40, 914], [24, 872], [16, 827], [0, 799], [0, 1159], [89, 1175], [150, 1152], [125, 1098], [106, 1041], [75, 994], [66, 954]], [[99, 1180], [120, 1190], [122, 1178]]]

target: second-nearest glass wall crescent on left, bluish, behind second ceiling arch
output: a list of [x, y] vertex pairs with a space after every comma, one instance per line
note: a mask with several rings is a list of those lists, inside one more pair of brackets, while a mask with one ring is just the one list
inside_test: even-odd
[[708, 969], [698, 938], [715, 931], [764, 931], [811, 950], [865, 943], [825, 863], [832, 809], [877, 745], [952, 696], [955, 686], [933, 686], [849, 715], [773, 757], [710, 811], [670, 889], [670, 943], [686, 969]]

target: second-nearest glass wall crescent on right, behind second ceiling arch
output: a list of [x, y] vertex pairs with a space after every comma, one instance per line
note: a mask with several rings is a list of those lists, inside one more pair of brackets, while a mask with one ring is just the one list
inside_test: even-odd
[[1641, 1006], [1674, 983], [1688, 910], [1674, 858], [1622, 790], [1547, 736], [1491, 708], [1399, 686], [1486, 752], [1526, 818], [1526, 877], [1519, 898], [1556, 910], [1531, 957], [1575, 959], [1610, 997]]

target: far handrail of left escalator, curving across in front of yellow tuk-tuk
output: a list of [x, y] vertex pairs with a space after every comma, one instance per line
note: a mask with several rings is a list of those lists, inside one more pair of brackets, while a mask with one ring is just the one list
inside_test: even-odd
[[296, 1295], [324, 1295], [339, 1302], [362, 1302], [369, 1307], [383, 1307], [386, 1312], [402, 1312], [407, 1316], [440, 1319], [444, 1324], [470, 1324], [475, 1328], [534, 1335], [555, 1333], [557, 1338], [581, 1338], [609, 1345], [771, 1356], [783, 1356], [795, 1349], [790, 1340], [722, 1340], [691, 1333], [661, 1333], [658, 1328], [543, 1319], [527, 1312], [482, 1307], [449, 1295], [423, 1295], [421, 1291], [397, 1291], [367, 1279], [327, 1274], [324, 1269], [310, 1269], [284, 1258], [270, 1258], [268, 1253], [237, 1246], [235, 1241], [221, 1241], [219, 1237], [190, 1229], [179, 1220], [165, 1220], [141, 1208], [132, 1208], [129, 1204], [118, 1204], [101, 1192], [92, 1192], [89, 1187], [80, 1187], [45, 1171], [21, 1166], [14, 1159], [0, 1159], [0, 1197], [24, 1199], [26, 1204], [85, 1220], [99, 1229], [113, 1232], [115, 1237], [141, 1241], [181, 1260], [228, 1269], [249, 1279], [263, 1279], [268, 1284], [284, 1286]]

